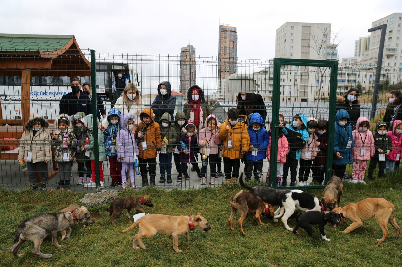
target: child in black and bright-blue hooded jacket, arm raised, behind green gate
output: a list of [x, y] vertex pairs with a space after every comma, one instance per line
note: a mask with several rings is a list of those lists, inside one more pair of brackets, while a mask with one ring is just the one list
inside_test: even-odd
[[290, 169], [290, 186], [296, 185], [297, 164], [299, 163], [301, 149], [304, 148], [310, 135], [306, 129], [307, 115], [296, 114], [290, 125], [282, 129], [289, 142], [289, 153], [283, 167], [282, 186], [287, 186], [287, 174]]

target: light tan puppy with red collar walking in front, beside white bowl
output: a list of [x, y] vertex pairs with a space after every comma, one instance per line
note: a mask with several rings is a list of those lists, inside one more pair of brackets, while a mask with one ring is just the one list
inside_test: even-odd
[[139, 225], [137, 235], [133, 237], [133, 248], [137, 247], [137, 241], [142, 249], [146, 249], [142, 239], [145, 237], [153, 237], [156, 233], [164, 233], [173, 236], [173, 249], [176, 252], [183, 252], [178, 246], [178, 236], [186, 234], [186, 241], [190, 240], [189, 230], [200, 229], [204, 231], [211, 230], [207, 219], [201, 216], [201, 213], [192, 216], [169, 216], [162, 214], [147, 214], [142, 216], [127, 229], [120, 231], [127, 232]]

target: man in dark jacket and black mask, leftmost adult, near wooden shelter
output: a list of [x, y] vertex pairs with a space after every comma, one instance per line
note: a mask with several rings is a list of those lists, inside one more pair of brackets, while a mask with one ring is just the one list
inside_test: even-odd
[[59, 114], [74, 115], [84, 112], [85, 115], [92, 113], [92, 103], [88, 95], [81, 91], [81, 81], [77, 77], [71, 79], [71, 93], [63, 95], [60, 99]]

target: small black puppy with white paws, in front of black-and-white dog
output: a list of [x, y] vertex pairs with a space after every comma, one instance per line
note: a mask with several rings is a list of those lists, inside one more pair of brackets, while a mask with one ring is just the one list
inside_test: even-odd
[[[311, 225], [318, 225], [318, 229], [320, 229], [322, 239], [324, 239], [326, 241], [331, 241], [331, 239], [328, 239], [325, 235], [324, 226], [327, 223], [330, 223], [332, 225], [332, 227], [334, 227], [334, 228], [337, 227], [340, 222], [340, 214], [338, 214], [337, 212], [334, 212], [334, 211], [329, 211], [329, 212], [328, 211], [324, 211], [324, 212], [309, 211], [304, 214], [301, 214], [301, 212], [299, 212], [299, 214], [297, 214], [297, 216], [296, 216], [296, 222], [297, 222], [297, 225], [296, 225], [295, 229], [293, 230], [294, 234], [297, 234], [297, 229], [299, 229], [299, 227], [301, 227], [307, 231], [307, 233], [310, 237], [313, 237], [313, 229], [312, 229]], [[320, 239], [318, 239], [318, 240], [320, 240]]]

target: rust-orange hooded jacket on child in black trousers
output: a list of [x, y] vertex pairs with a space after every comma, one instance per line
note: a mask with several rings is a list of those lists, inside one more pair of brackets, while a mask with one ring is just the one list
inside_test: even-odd
[[[151, 123], [148, 125], [142, 121], [142, 113], [146, 113], [151, 117]], [[138, 139], [138, 132], [142, 127], [146, 128], [144, 138], [142, 142], [147, 143], [147, 149], [142, 150], [142, 142], [138, 142], [139, 158], [148, 159], [156, 158], [157, 151], [160, 151], [162, 140], [160, 138], [160, 127], [157, 122], [154, 121], [154, 111], [151, 108], [146, 107], [139, 115], [141, 122], [135, 130], [135, 137]]]

